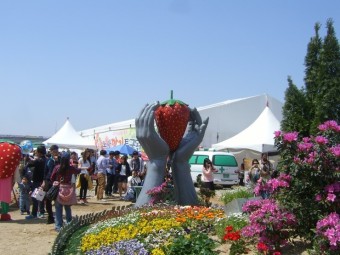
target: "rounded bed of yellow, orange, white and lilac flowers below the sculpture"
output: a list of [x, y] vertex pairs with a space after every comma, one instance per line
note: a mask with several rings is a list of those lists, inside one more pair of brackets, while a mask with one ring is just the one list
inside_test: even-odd
[[75, 249], [64, 254], [218, 254], [211, 237], [225, 217], [219, 208], [136, 208], [78, 231], [67, 244]]

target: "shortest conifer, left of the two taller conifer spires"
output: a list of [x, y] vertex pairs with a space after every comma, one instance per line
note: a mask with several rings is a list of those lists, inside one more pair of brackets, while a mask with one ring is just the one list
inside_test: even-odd
[[283, 131], [299, 131], [303, 136], [308, 135], [309, 111], [305, 93], [296, 87], [291, 77], [288, 77], [282, 113], [281, 129]]

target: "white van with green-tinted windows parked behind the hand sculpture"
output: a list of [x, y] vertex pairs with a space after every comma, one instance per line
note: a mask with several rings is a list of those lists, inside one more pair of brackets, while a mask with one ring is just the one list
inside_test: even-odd
[[219, 185], [236, 185], [239, 183], [238, 164], [232, 153], [222, 151], [195, 151], [189, 160], [191, 178], [194, 183], [197, 182], [197, 176], [202, 174], [203, 161], [209, 158], [213, 166], [218, 170], [214, 173], [214, 184]]

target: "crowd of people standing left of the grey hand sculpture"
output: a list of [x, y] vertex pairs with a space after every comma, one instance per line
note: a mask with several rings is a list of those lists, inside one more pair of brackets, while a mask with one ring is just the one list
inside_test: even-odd
[[[120, 200], [135, 201], [134, 187], [143, 185], [145, 175], [146, 164], [137, 151], [129, 159], [119, 151], [107, 153], [101, 150], [97, 156], [94, 150], [86, 149], [78, 156], [75, 151], [61, 152], [57, 145], [52, 145], [49, 151], [45, 146], [38, 146], [33, 156], [22, 157], [18, 180], [19, 208], [22, 215], [27, 214], [26, 220], [45, 218], [47, 213], [46, 223], [55, 224], [55, 230], [60, 231], [64, 224], [63, 209], [68, 223], [72, 220], [71, 206], [87, 204], [89, 190], [94, 189], [99, 202], [106, 202], [105, 199], [115, 194]], [[59, 194], [63, 189], [72, 191], [75, 201], [68, 199], [65, 202], [60, 196], [53, 201], [46, 197], [42, 200], [32, 197], [36, 190], [47, 192], [54, 185], [59, 186]]]

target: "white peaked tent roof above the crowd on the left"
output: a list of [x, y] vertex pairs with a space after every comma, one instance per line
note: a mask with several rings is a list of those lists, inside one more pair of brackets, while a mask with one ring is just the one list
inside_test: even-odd
[[51, 138], [44, 141], [46, 146], [53, 144], [61, 148], [68, 149], [96, 149], [94, 141], [81, 137], [78, 132], [73, 128], [69, 119], [65, 124], [55, 133]]

